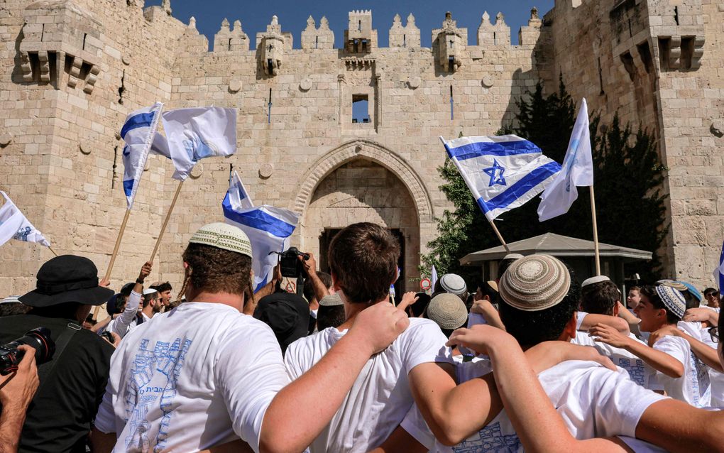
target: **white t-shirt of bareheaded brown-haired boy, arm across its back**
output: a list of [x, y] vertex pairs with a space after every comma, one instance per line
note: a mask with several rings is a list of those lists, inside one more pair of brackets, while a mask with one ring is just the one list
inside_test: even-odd
[[[284, 357], [290, 378], [313, 367], [345, 333], [327, 328], [290, 344]], [[446, 341], [433, 321], [410, 318], [410, 326], [367, 361], [311, 452], [368, 452], [381, 445], [413, 404], [408, 373], [422, 363], [451, 362]]]

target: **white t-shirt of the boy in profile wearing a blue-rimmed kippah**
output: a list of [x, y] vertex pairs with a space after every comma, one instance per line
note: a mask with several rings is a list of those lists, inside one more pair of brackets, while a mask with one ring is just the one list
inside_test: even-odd
[[652, 347], [657, 351], [669, 354], [683, 365], [681, 378], [672, 378], [664, 373], [657, 373], [658, 381], [664, 387], [666, 394], [694, 407], [710, 406], [711, 388], [708, 367], [691, 352], [689, 342], [678, 336], [664, 336], [659, 338]]

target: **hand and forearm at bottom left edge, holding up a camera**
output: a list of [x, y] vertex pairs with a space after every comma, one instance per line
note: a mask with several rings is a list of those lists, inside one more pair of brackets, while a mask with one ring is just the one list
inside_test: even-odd
[[24, 344], [18, 349], [24, 355], [17, 370], [0, 383], [0, 453], [17, 452], [25, 411], [40, 383], [33, 347]]

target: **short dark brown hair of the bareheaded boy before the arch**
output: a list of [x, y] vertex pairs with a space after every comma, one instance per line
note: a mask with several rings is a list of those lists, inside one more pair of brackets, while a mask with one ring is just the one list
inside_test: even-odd
[[374, 304], [390, 294], [399, 258], [395, 236], [374, 223], [349, 225], [329, 244], [329, 268], [352, 303]]

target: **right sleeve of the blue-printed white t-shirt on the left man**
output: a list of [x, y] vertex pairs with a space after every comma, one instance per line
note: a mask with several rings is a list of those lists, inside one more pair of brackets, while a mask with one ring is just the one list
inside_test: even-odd
[[277, 338], [266, 325], [243, 323], [224, 336], [216, 359], [217, 388], [234, 432], [259, 451], [261, 423], [274, 396], [289, 383]]

